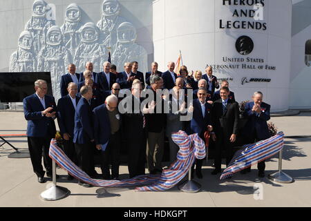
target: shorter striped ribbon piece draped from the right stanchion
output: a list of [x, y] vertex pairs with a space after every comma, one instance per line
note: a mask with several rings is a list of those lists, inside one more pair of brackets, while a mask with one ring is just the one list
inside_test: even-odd
[[243, 149], [236, 152], [227, 169], [221, 174], [220, 180], [231, 177], [238, 171], [242, 171], [249, 166], [258, 164], [258, 162], [272, 157], [281, 151], [283, 144], [284, 133], [280, 132], [267, 140], [244, 145]]

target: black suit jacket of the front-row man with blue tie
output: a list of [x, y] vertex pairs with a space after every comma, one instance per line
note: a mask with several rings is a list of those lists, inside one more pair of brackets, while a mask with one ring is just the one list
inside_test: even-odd
[[220, 136], [229, 140], [233, 133], [238, 133], [238, 103], [228, 99], [227, 111], [223, 113], [223, 101], [218, 99], [214, 102], [211, 113], [216, 137]]

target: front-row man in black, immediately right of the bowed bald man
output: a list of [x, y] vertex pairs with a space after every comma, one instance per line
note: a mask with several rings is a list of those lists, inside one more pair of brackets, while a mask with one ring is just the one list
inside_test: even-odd
[[[128, 147], [129, 177], [143, 175], [146, 162], [146, 120], [140, 111], [142, 85], [132, 85], [131, 95], [120, 102], [120, 113], [124, 125], [124, 137]], [[133, 134], [135, 132], [135, 134]]]

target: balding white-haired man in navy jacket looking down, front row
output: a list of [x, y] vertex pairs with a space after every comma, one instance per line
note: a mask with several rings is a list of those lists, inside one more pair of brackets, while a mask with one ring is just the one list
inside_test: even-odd
[[[119, 179], [121, 118], [117, 103], [117, 97], [110, 95], [104, 104], [93, 110], [95, 144], [97, 150], [102, 151], [101, 164], [104, 180]], [[109, 162], [112, 165], [111, 173]]]

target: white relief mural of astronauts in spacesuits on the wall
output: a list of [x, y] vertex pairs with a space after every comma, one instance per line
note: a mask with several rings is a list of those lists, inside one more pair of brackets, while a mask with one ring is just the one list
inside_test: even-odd
[[[82, 10], [71, 3], [65, 12], [62, 26], [56, 26], [51, 4], [35, 0], [32, 16], [21, 30], [18, 47], [10, 57], [10, 72], [47, 71], [51, 73], [55, 99], [60, 95], [60, 79], [68, 64], [75, 64], [77, 73], [87, 61], [93, 71], [101, 72], [111, 52], [111, 63], [123, 70], [127, 61], [138, 61], [140, 70], [147, 71], [147, 51], [136, 44], [136, 28], [120, 17], [117, 0], [102, 2], [102, 17], [97, 23], [82, 22]], [[55, 15], [55, 14], [54, 14]]]

